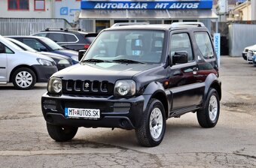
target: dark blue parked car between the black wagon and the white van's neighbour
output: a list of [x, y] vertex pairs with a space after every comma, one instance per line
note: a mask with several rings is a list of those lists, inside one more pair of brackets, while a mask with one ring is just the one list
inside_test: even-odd
[[39, 52], [53, 52], [60, 55], [66, 55], [72, 58], [72, 64], [75, 65], [78, 63], [78, 52], [71, 49], [64, 49], [59, 44], [55, 43], [53, 40], [47, 37], [39, 36], [8, 36], [20, 42], [25, 43], [26, 45], [32, 47]]

